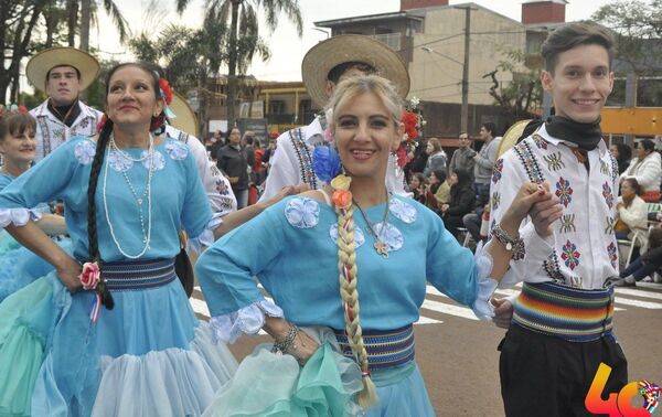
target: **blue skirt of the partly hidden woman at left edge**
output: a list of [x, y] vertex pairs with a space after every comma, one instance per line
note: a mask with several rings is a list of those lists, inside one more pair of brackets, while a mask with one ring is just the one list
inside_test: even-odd
[[[7, 234], [4, 231], [2, 233]], [[71, 239], [65, 238], [55, 243], [67, 254], [72, 254]], [[10, 247], [13, 248], [9, 249]], [[3, 248], [8, 250], [2, 252]], [[21, 246], [10, 235], [0, 236], [0, 302], [11, 293], [54, 269], [51, 264], [36, 256], [30, 249]]]

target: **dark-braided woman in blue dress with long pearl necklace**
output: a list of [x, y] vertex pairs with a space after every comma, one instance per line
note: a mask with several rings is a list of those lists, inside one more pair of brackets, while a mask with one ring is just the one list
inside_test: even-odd
[[[236, 368], [174, 274], [180, 229], [217, 222], [188, 146], [151, 133], [158, 75], [120, 64], [106, 82], [98, 137], [67, 140], [0, 193], [1, 226], [56, 271], [0, 303], [0, 415], [197, 416]], [[73, 256], [26, 215], [56, 197]]]

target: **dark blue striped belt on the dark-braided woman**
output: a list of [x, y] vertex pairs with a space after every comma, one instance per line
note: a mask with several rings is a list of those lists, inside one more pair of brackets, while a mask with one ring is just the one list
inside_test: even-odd
[[161, 287], [177, 278], [174, 259], [104, 264], [102, 274], [110, 291]]

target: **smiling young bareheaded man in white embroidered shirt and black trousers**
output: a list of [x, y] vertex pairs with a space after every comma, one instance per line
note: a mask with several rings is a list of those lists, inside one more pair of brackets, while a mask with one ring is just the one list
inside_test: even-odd
[[[501, 393], [510, 416], [585, 416], [600, 362], [611, 366], [605, 393], [628, 383], [612, 332], [618, 250], [613, 234], [618, 165], [601, 138], [600, 109], [611, 93], [613, 45], [600, 26], [569, 23], [545, 41], [541, 79], [556, 115], [494, 164], [492, 218], [499, 224], [520, 185], [556, 194], [560, 218], [549, 229], [520, 228], [525, 257], [502, 286], [524, 281], [501, 351]], [[564, 301], [558, 301], [564, 300]], [[509, 301], [494, 301], [496, 312]]]

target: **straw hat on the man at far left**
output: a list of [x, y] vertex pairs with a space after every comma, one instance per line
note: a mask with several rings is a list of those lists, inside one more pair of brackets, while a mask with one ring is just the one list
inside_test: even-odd
[[35, 88], [45, 92], [46, 74], [62, 65], [73, 66], [81, 72], [81, 90], [89, 87], [100, 71], [98, 61], [87, 52], [71, 46], [58, 46], [32, 56], [25, 66], [25, 75]]

